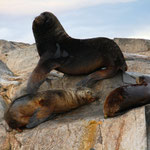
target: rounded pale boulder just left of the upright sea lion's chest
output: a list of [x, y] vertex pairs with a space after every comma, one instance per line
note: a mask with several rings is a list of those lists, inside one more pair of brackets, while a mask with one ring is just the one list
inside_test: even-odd
[[[14, 61], [17, 60], [17, 61]], [[22, 49], [16, 49], [7, 53], [6, 65], [17, 75], [32, 72], [39, 60], [35, 46], [30, 45]]]

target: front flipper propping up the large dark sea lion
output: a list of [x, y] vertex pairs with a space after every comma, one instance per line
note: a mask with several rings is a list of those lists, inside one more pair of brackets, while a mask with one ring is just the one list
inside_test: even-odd
[[28, 80], [27, 93], [35, 93], [45, 81], [47, 74], [59, 66], [60, 64], [54, 60], [49, 59], [44, 61], [41, 58]]

